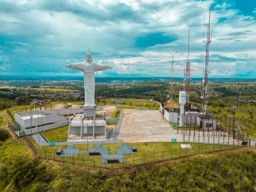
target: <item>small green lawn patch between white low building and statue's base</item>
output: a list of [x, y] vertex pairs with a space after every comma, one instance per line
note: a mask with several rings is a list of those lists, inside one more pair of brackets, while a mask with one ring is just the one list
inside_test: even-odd
[[48, 140], [48, 141], [67, 141], [68, 140], [68, 126], [56, 128], [49, 131], [42, 132], [42, 135]]

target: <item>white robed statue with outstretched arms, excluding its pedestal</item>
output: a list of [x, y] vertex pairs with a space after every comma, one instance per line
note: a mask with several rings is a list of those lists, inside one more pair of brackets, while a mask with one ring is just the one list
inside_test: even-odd
[[69, 64], [66, 68], [72, 68], [84, 72], [84, 106], [94, 106], [95, 71], [112, 69], [112, 67], [98, 64], [92, 61], [92, 55], [86, 53], [86, 62]]

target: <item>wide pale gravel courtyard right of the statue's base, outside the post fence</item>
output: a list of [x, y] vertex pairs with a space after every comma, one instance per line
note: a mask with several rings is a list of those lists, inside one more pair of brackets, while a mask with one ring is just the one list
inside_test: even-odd
[[124, 109], [118, 142], [166, 142], [182, 135], [172, 129], [158, 110]]

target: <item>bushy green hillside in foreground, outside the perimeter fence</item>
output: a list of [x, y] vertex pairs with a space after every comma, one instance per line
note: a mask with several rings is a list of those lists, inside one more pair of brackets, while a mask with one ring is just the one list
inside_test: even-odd
[[[21, 142], [0, 143], [0, 191], [248, 192], [256, 188], [256, 154], [251, 150], [190, 158], [162, 166], [98, 170], [43, 163], [29, 154], [21, 154], [18, 150]], [[16, 150], [8, 145], [16, 146], [13, 147]]]

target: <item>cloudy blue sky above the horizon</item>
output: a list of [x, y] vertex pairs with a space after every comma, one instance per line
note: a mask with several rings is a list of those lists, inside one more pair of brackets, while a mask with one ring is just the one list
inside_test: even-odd
[[112, 66], [96, 76], [182, 77], [190, 30], [191, 76], [256, 77], [256, 0], [0, 0], [0, 75], [82, 76], [85, 60]]

